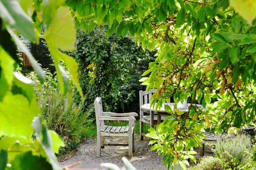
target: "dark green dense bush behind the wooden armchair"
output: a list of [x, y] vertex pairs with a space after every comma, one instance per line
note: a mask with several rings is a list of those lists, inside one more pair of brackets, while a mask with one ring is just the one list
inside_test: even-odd
[[129, 38], [113, 34], [107, 38], [107, 27], [95, 27], [90, 33], [77, 30], [75, 51], [68, 54], [78, 63], [78, 78], [85, 103], [101, 96], [104, 110], [139, 112], [141, 75], [154, 61], [154, 53], [143, 51]]

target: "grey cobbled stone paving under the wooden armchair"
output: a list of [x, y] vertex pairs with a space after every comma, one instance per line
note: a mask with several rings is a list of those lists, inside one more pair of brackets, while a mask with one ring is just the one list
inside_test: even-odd
[[[167, 170], [163, 165], [163, 157], [155, 151], [150, 151], [148, 145], [150, 139], [144, 137], [144, 141], [139, 140], [139, 134], [135, 135], [135, 152], [132, 159], [128, 159], [137, 170]], [[106, 143], [123, 143], [127, 137], [105, 137]], [[106, 148], [120, 148], [121, 146], [107, 146]], [[122, 146], [123, 147], [123, 146]], [[100, 167], [100, 163], [113, 163], [121, 170], [125, 170], [122, 157], [128, 157], [128, 152], [101, 152], [101, 157], [96, 157], [96, 140], [86, 139], [77, 152], [77, 155], [67, 161], [60, 162], [61, 166], [70, 165], [80, 161], [74, 168], [85, 168], [88, 170], [106, 170]]]

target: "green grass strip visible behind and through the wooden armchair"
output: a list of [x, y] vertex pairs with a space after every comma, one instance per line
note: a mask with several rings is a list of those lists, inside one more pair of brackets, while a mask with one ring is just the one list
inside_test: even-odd
[[[108, 126], [128, 126], [129, 122], [128, 121], [105, 121], [105, 124]], [[139, 133], [139, 121], [135, 121], [135, 134]], [[143, 132], [147, 133], [148, 129], [150, 128], [150, 125], [147, 123], [144, 123], [144, 128]], [[97, 127], [96, 127], [96, 122], [92, 123], [92, 125], [88, 128], [85, 137], [86, 138], [96, 138], [97, 136]]]

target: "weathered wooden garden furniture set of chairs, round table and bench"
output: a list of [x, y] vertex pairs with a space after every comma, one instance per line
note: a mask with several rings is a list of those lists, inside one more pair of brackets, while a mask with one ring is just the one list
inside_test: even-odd
[[[143, 140], [143, 124], [150, 124], [150, 127], [154, 128], [155, 124], [160, 124], [163, 120], [169, 116], [169, 114], [165, 111], [164, 105], [169, 105], [172, 110], [174, 108], [175, 103], [167, 103], [164, 102], [161, 108], [155, 109], [152, 106], [150, 107], [150, 99], [155, 90], [149, 91], [139, 91], [139, 105], [140, 105], [140, 139]], [[128, 157], [132, 157], [132, 152], [134, 152], [134, 121], [136, 120], [137, 113], [112, 113], [112, 112], [103, 112], [102, 110], [102, 101], [100, 97], [97, 97], [95, 102], [95, 113], [96, 113], [96, 125], [97, 125], [97, 153], [96, 156], [100, 157], [101, 150], [113, 150], [106, 149], [104, 146], [128, 146]], [[186, 107], [178, 108], [182, 112], [189, 112], [188, 106], [190, 104], [187, 103]], [[203, 108], [201, 104], [193, 104], [198, 108]], [[207, 108], [204, 108], [207, 110]], [[148, 113], [149, 115], [145, 115], [144, 113]], [[171, 118], [170, 118], [171, 119]], [[112, 121], [129, 121], [129, 126], [108, 126], [104, 124], [105, 120]], [[242, 130], [253, 130], [254, 126], [243, 127]], [[224, 135], [214, 134], [210, 132], [202, 132], [206, 136], [206, 139], [203, 139], [202, 147], [200, 148], [199, 155], [204, 156], [204, 146], [205, 143], [210, 142], [213, 143], [217, 141], [217, 139], [223, 139]], [[104, 136], [127, 136], [128, 144], [110, 144], [104, 143]], [[117, 151], [124, 151], [123, 149], [119, 149]]]

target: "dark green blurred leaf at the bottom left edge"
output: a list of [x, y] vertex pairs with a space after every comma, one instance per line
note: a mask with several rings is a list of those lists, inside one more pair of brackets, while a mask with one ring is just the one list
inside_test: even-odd
[[52, 166], [44, 157], [33, 155], [32, 152], [19, 154], [11, 161], [7, 170], [52, 170]]

